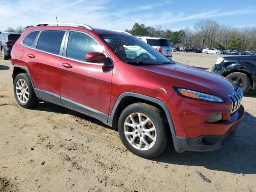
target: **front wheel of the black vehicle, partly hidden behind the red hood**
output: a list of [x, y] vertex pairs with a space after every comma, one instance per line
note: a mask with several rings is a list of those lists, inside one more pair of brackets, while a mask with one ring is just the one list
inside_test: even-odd
[[226, 78], [232, 82], [235, 82], [236, 85], [242, 89], [244, 94], [246, 94], [246, 92], [248, 92], [248, 90], [250, 89], [250, 79], [244, 73], [230, 73], [228, 76], [226, 76]]

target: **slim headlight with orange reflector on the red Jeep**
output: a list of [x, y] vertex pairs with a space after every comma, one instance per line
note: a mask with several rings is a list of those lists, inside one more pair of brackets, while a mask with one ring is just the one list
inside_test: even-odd
[[190, 98], [190, 99], [197, 99], [197, 100], [218, 102], [218, 103], [224, 102], [222, 98], [215, 95], [210, 95], [207, 93], [202, 93], [202, 92], [180, 88], [180, 87], [174, 87], [174, 90], [179, 96]]

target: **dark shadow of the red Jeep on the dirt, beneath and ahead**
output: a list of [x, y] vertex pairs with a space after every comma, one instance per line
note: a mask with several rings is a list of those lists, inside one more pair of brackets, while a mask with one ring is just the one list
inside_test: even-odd
[[[40, 103], [33, 110], [70, 114], [75, 118], [88, 120], [105, 128], [116, 130], [89, 116], [73, 110], [51, 104]], [[184, 152], [177, 153], [168, 148], [164, 153], [151, 160], [166, 164], [186, 166], [203, 166], [210, 170], [226, 171], [231, 173], [256, 174], [256, 118], [245, 113], [244, 119], [235, 136], [223, 148], [212, 152]]]

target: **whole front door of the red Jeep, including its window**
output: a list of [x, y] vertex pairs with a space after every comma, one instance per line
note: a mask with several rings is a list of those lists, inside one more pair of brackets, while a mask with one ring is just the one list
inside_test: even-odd
[[84, 32], [68, 32], [59, 62], [61, 100], [68, 108], [107, 121], [112, 66], [86, 62], [89, 52], [106, 54], [92, 36]]

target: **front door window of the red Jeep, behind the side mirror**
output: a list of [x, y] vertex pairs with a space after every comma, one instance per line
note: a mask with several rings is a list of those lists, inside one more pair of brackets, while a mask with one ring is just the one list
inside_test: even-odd
[[68, 37], [66, 57], [85, 61], [86, 54], [90, 52], [103, 52], [102, 46], [84, 33], [71, 31]]

